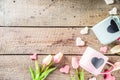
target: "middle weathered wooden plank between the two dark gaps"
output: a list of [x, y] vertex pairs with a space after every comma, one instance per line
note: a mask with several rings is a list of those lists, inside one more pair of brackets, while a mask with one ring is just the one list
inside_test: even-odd
[[86, 46], [97, 50], [102, 46], [92, 30], [81, 35], [82, 28], [0, 28], [0, 54], [82, 54], [85, 47], [77, 47], [76, 37], [86, 41]]

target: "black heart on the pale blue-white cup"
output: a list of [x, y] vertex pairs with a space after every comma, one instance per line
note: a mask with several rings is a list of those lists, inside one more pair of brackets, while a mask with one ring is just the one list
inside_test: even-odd
[[113, 19], [110, 21], [110, 25], [108, 26], [107, 31], [110, 33], [115, 33], [119, 31], [118, 26]]

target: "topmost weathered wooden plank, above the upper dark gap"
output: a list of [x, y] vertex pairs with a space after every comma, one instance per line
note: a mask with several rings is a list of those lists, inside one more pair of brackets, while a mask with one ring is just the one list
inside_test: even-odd
[[0, 0], [0, 26], [93, 26], [114, 6], [119, 13], [119, 0]]

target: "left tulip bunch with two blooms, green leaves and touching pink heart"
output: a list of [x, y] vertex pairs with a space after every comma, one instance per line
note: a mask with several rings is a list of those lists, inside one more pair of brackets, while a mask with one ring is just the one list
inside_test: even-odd
[[33, 54], [31, 56], [31, 59], [35, 61], [35, 71], [32, 67], [29, 67], [32, 80], [45, 80], [47, 76], [57, 68], [54, 66], [54, 64], [58, 64], [61, 61], [62, 57], [63, 54], [61, 52], [55, 56], [48, 55], [43, 59], [42, 65], [39, 65], [37, 54]]

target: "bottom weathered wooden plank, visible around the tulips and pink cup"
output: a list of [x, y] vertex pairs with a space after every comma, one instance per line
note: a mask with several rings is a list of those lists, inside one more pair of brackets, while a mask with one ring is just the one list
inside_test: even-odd
[[[65, 55], [64, 55], [65, 56]], [[39, 56], [39, 62], [45, 56]], [[72, 56], [65, 56], [62, 64], [69, 64]], [[111, 62], [120, 61], [119, 56], [109, 56]], [[29, 55], [21, 56], [0, 56], [0, 80], [31, 80], [29, 73], [29, 66], [34, 67], [34, 61], [29, 58]], [[70, 65], [71, 66], [71, 65]], [[75, 73], [71, 67], [71, 74]], [[120, 80], [120, 71], [113, 72], [116, 80]], [[85, 80], [94, 75], [85, 72]], [[70, 74], [62, 74], [59, 72], [59, 68], [53, 72], [46, 80], [70, 80]], [[97, 76], [97, 80], [103, 80], [103, 76]]]

